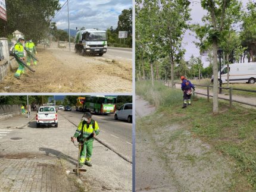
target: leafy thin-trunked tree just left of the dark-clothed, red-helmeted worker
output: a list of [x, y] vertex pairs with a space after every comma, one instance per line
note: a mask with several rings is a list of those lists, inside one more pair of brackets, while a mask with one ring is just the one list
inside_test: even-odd
[[158, 15], [160, 24], [158, 30], [159, 40], [164, 53], [169, 57], [171, 64], [171, 88], [174, 89], [175, 62], [182, 59], [184, 51], [181, 49], [183, 34], [189, 28], [190, 18], [189, 1], [165, 1], [159, 2], [161, 12]]

